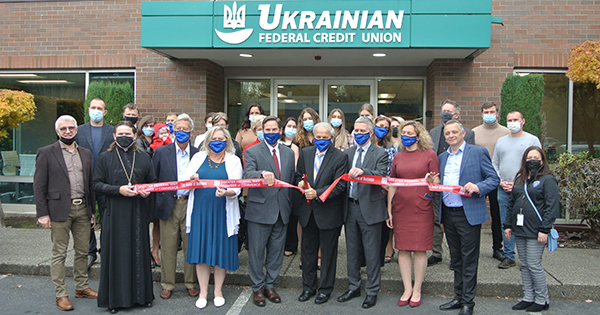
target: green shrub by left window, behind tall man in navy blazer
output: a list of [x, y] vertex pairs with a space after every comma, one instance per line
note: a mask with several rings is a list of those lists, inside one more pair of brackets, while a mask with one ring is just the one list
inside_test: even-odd
[[134, 102], [133, 87], [127, 82], [115, 83], [107, 80], [90, 83], [85, 98], [85, 122], [90, 121], [90, 117], [87, 115], [87, 109], [90, 106], [90, 101], [94, 98], [101, 98], [104, 100], [106, 103], [106, 110], [108, 111], [104, 116], [104, 122], [114, 125], [123, 120], [123, 106], [127, 103]]

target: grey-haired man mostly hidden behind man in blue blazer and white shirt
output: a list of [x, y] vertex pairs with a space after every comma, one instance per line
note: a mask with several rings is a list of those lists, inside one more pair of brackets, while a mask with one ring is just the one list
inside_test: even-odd
[[[460, 117], [460, 105], [453, 100], [445, 100], [441, 107], [442, 124], [431, 129], [429, 135], [433, 140], [433, 151], [439, 156], [442, 152], [448, 150], [448, 142], [444, 138], [444, 125], [450, 120], [458, 120]], [[463, 127], [464, 128], [464, 127]], [[465, 142], [475, 144], [475, 133], [469, 129], [465, 129]], [[433, 208], [437, 209], [440, 206], [440, 193], [433, 193]], [[440, 227], [438, 221], [438, 213], [434, 211], [433, 225], [433, 253], [427, 259], [427, 266], [433, 266], [442, 262], [442, 242], [444, 241], [444, 231]]]

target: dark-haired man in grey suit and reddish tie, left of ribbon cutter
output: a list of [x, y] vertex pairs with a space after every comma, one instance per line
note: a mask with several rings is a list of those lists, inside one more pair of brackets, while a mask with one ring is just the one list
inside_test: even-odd
[[[244, 178], [264, 178], [268, 185], [272, 185], [275, 179], [292, 184], [294, 151], [279, 145], [279, 118], [265, 118], [263, 134], [264, 141], [246, 150]], [[283, 262], [285, 235], [292, 212], [290, 196], [289, 188], [248, 189], [245, 214], [248, 221], [248, 273], [253, 283], [253, 302], [257, 306], [265, 306], [265, 296], [273, 303], [281, 302], [274, 285]], [[266, 276], [263, 266], [267, 270]]]

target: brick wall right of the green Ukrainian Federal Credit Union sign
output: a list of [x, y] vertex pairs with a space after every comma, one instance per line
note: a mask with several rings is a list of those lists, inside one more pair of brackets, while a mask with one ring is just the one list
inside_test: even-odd
[[[492, 1], [491, 48], [474, 60], [434, 60], [428, 68], [427, 109], [433, 127], [440, 123], [440, 103], [446, 98], [462, 106], [467, 127], [481, 124], [480, 106], [500, 104], [500, 90], [514, 68], [566, 69], [568, 51], [586, 40], [600, 38], [598, 1]], [[430, 120], [431, 121], [431, 120]]]

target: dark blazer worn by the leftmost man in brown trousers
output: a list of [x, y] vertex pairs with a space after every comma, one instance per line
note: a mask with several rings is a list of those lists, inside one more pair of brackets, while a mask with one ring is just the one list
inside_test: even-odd
[[[57, 142], [39, 148], [35, 158], [33, 195], [37, 217], [50, 216], [51, 221], [64, 222], [71, 211], [71, 183], [67, 164]], [[77, 146], [83, 165], [83, 183], [88, 216], [96, 212], [96, 200], [92, 189], [92, 153]]]

